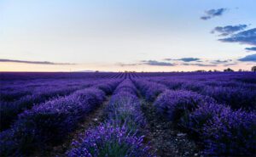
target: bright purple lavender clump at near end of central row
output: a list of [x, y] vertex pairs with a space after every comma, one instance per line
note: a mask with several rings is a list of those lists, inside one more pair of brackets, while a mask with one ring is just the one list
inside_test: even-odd
[[69, 157], [142, 157], [152, 156], [143, 136], [131, 133], [124, 126], [103, 124], [90, 129], [73, 142], [73, 149], [67, 151]]

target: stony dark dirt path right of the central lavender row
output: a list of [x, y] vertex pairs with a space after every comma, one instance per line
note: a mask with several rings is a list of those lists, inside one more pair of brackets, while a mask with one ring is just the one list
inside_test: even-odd
[[170, 121], [160, 117], [153, 104], [141, 98], [143, 114], [148, 122], [146, 141], [157, 156], [201, 156], [198, 146], [189, 139], [186, 133], [179, 132]]

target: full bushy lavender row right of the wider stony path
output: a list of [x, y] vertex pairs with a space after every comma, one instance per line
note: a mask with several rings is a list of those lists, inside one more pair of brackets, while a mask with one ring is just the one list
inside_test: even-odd
[[[256, 114], [230, 109], [206, 95], [187, 90], [170, 90], [165, 85], [134, 80], [143, 96], [160, 115], [196, 135], [205, 154], [253, 155], [256, 145]], [[228, 91], [229, 92], [229, 91]]]

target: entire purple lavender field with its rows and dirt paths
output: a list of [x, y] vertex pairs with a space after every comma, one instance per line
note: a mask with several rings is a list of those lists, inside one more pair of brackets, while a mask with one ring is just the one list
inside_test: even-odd
[[1, 73], [0, 156], [253, 156], [256, 73]]

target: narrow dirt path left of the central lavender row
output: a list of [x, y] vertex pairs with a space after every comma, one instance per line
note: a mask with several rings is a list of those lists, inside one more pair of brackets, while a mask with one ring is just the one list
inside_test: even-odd
[[54, 148], [50, 148], [49, 150], [46, 150], [44, 154], [41, 152], [38, 154], [42, 155], [33, 155], [33, 156], [66, 156], [65, 153], [68, 149], [70, 149], [71, 143], [73, 142], [73, 139], [77, 139], [79, 137], [79, 134], [84, 133], [86, 130], [88, 130], [90, 127], [99, 126], [102, 121], [104, 121], [105, 117], [105, 109], [108, 106], [110, 96], [104, 101], [102, 105], [99, 105], [95, 110], [93, 110], [90, 115], [86, 115], [84, 117], [84, 120], [80, 122], [78, 128], [70, 133], [68, 137], [65, 139], [64, 142], [62, 142], [60, 145], [55, 146]]

